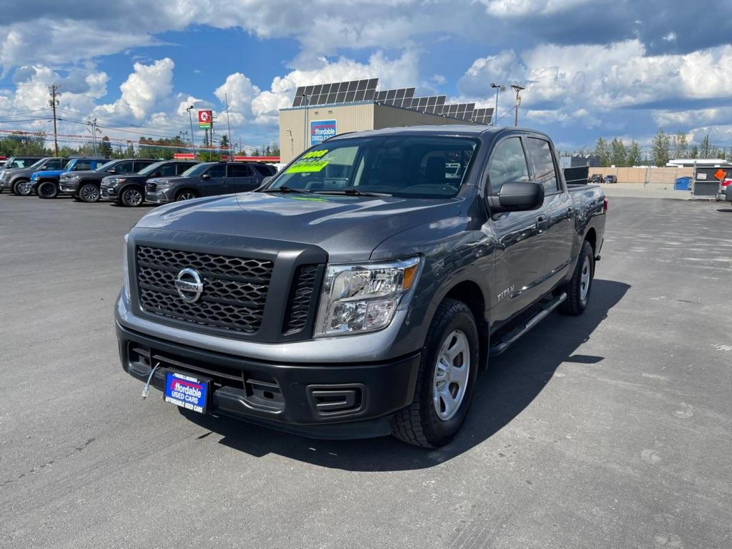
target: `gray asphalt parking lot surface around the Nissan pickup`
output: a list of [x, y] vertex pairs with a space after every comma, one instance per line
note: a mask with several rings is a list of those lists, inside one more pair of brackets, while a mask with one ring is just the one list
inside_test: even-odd
[[0, 547], [732, 546], [732, 207], [611, 198], [589, 310], [436, 451], [141, 400], [112, 309], [146, 211], [0, 195]]

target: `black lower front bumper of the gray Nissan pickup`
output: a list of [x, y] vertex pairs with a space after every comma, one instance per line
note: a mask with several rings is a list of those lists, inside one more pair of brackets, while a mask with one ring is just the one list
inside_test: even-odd
[[313, 438], [390, 433], [392, 413], [411, 404], [419, 353], [384, 362], [276, 362], [184, 346], [116, 324], [122, 367], [163, 390], [165, 370], [212, 380], [209, 411]]

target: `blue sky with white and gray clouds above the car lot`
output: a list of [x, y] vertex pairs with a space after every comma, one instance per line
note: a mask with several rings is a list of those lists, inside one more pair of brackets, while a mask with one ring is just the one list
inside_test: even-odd
[[[190, 128], [187, 105], [223, 113], [226, 95], [235, 139], [261, 146], [276, 141], [277, 111], [296, 86], [378, 77], [482, 106], [493, 105], [491, 81], [520, 83], [520, 123], [564, 149], [600, 136], [648, 143], [659, 127], [732, 145], [732, 45], [720, 31], [731, 2], [159, 4], [4, 7], [0, 130], [48, 131], [45, 86], [60, 83], [66, 135], [84, 135], [91, 118], [113, 138], [176, 135]], [[512, 123], [511, 105], [502, 94], [501, 124]]]

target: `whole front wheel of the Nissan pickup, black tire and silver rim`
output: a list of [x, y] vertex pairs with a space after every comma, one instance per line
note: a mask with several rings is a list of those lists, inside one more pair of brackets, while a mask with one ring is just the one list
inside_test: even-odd
[[397, 411], [392, 434], [425, 448], [444, 446], [470, 407], [478, 372], [478, 328], [468, 306], [445, 299], [427, 332], [414, 401]]

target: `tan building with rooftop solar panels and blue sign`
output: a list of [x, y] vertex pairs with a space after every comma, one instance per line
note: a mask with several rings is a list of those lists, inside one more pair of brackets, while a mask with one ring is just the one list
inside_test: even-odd
[[302, 86], [291, 107], [280, 109], [280, 158], [288, 163], [325, 139], [386, 127], [490, 124], [492, 108], [446, 105], [446, 96], [414, 97], [414, 88], [376, 91], [378, 78]]

